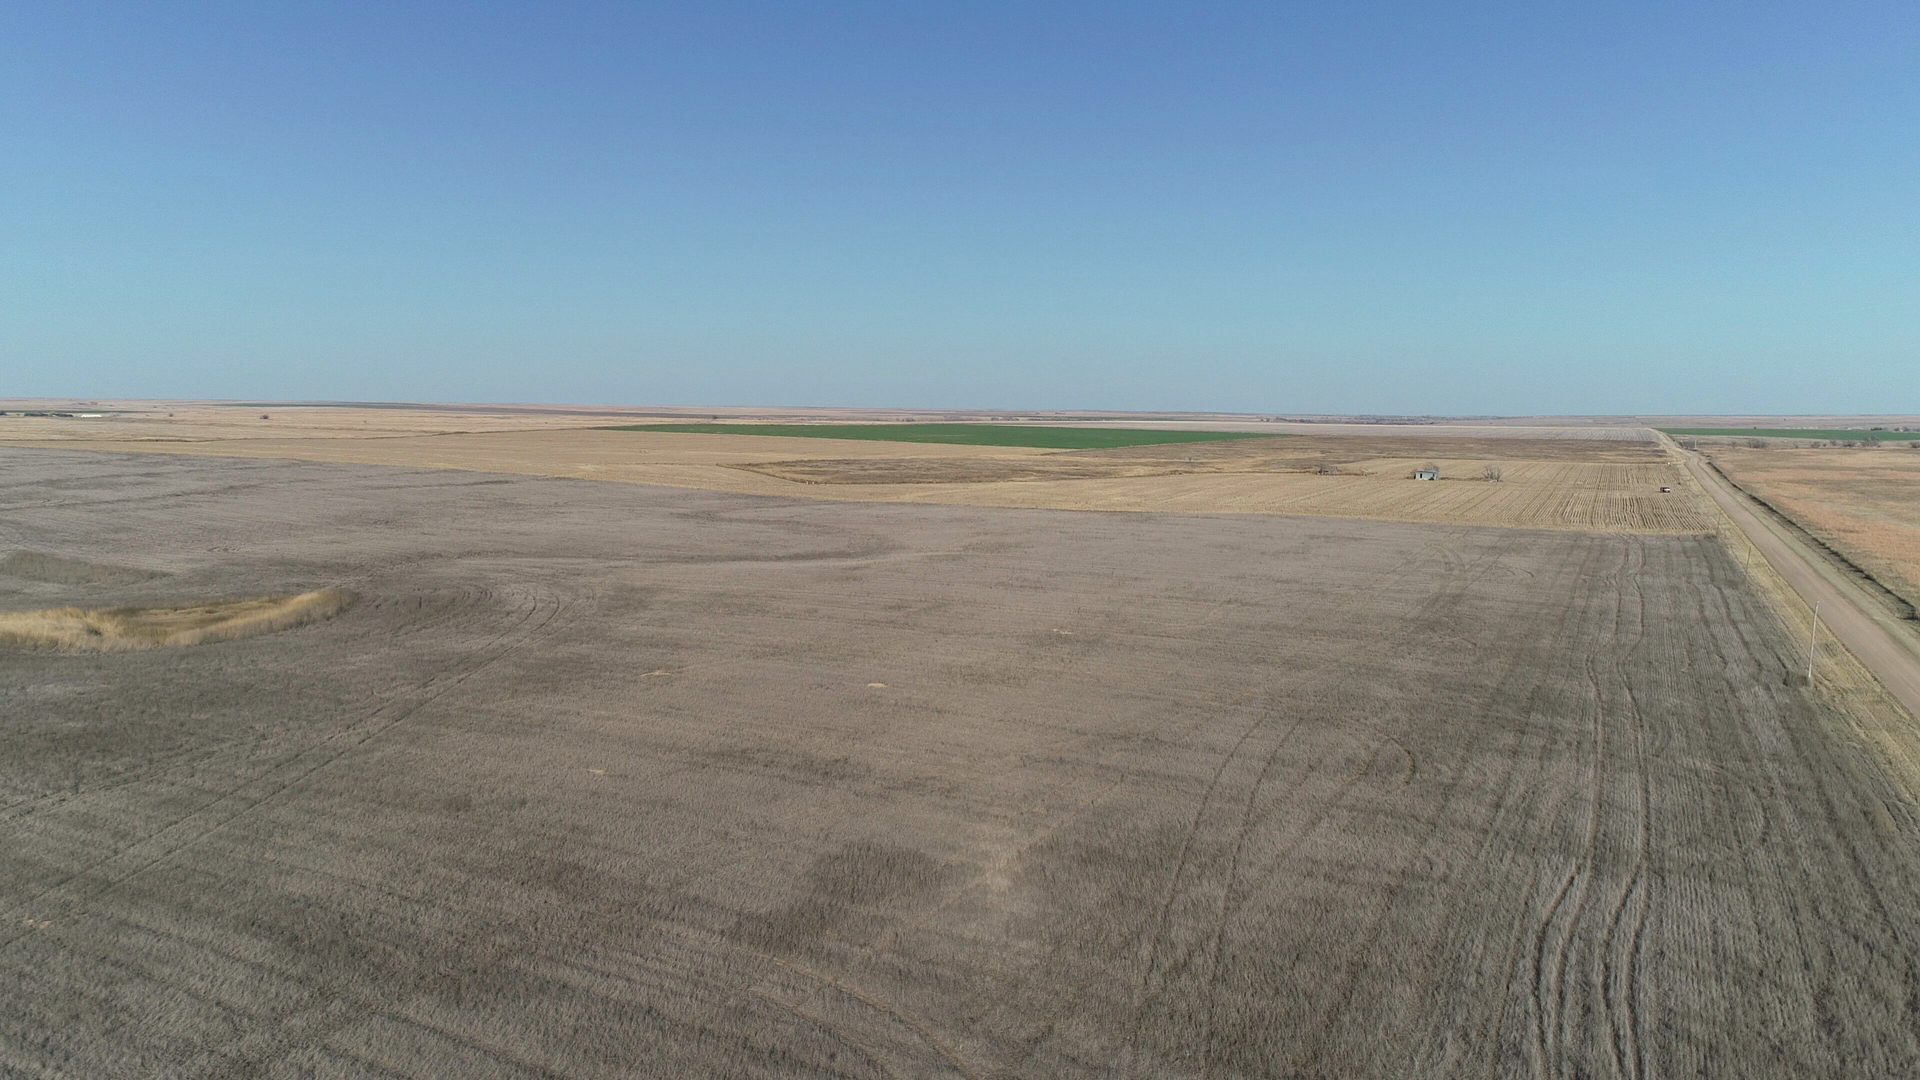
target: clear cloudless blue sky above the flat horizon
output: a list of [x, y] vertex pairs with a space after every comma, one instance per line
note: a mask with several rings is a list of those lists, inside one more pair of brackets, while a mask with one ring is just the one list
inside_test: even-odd
[[0, 98], [0, 396], [1920, 411], [1912, 0], [13, 2]]

